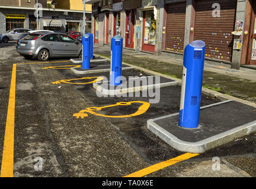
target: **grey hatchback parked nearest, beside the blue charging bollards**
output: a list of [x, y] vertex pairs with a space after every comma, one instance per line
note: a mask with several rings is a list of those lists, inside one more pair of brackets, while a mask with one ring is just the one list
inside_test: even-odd
[[17, 52], [41, 61], [50, 57], [82, 57], [82, 44], [66, 34], [37, 32], [21, 38]]

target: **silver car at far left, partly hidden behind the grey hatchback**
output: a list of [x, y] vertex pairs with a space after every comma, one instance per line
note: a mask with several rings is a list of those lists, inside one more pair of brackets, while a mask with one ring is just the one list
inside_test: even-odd
[[30, 29], [17, 28], [8, 30], [4, 34], [0, 34], [0, 42], [8, 43], [8, 41], [16, 41], [21, 34], [31, 31]]

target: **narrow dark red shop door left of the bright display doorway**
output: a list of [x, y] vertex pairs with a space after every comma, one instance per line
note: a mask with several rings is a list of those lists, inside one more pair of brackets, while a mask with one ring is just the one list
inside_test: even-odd
[[125, 47], [133, 48], [133, 34], [135, 25], [135, 10], [126, 11], [126, 44]]

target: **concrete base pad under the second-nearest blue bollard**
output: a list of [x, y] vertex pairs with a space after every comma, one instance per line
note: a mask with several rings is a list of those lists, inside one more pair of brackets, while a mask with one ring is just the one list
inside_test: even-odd
[[[94, 89], [104, 95], [118, 95], [124, 93], [133, 93], [143, 90], [156, 89], [161, 87], [177, 85], [178, 82], [158, 76], [160, 79], [156, 82], [156, 76], [135, 77], [124, 80], [119, 86], [111, 86], [110, 81], [97, 82], [93, 84]], [[145, 82], [141, 82], [144, 80]], [[130, 83], [130, 84], [129, 84]], [[142, 84], [141, 84], [142, 83]]]

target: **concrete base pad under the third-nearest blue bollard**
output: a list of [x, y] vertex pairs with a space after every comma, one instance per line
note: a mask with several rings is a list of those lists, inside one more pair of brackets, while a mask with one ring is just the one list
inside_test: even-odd
[[[130, 70], [133, 67], [123, 65], [122, 70]], [[91, 69], [82, 69], [82, 67], [72, 67], [71, 71], [75, 74], [102, 73], [110, 71], [110, 64], [97, 65], [91, 64]]]

